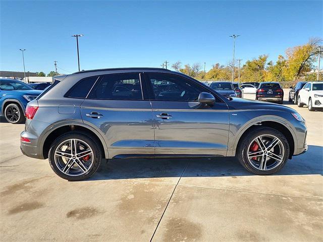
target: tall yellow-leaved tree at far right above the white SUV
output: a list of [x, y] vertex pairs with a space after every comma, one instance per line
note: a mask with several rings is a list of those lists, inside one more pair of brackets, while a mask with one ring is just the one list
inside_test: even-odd
[[283, 75], [286, 80], [294, 81], [299, 79], [313, 69], [313, 63], [316, 61], [318, 52], [317, 46], [322, 40], [320, 38], [311, 38], [304, 45], [295, 46], [286, 50], [287, 62], [283, 69]]

